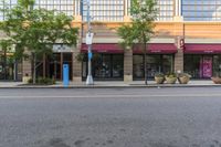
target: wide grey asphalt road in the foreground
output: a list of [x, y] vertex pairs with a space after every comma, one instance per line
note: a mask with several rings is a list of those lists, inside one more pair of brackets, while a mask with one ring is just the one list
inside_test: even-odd
[[0, 88], [0, 147], [221, 147], [221, 87]]

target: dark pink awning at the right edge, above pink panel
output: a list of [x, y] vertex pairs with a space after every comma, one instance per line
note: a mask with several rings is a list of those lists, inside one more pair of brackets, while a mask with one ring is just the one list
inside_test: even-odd
[[185, 44], [185, 53], [221, 53], [221, 44]]

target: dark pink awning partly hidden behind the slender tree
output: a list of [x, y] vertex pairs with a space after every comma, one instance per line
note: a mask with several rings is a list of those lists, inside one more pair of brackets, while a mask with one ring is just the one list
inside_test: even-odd
[[[134, 53], [143, 53], [141, 45], [134, 49]], [[173, 43], [149, 43], [147, 44], [147, 53], [177, 53], [177, 48]]]

